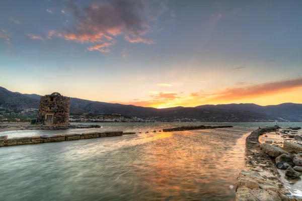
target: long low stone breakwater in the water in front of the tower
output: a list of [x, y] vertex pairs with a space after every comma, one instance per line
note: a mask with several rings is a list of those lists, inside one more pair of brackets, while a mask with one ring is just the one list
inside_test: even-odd
[[89, 138], [101, 138], [101, 137], [112, 137], [121, 136], [122, 131], [108, 131], [108, 132], [93, 132], [83, 134], [55, 134], [53, 136], [32, 136], [32, 137], [15, 137], [8, 138], [8, 136], [0, 136], [0, 147], [11, 146], [11, 145], [25, 145], [25, 144], [37, 144], [46, 142], [58, 142], [68, 140], [81, 140]]

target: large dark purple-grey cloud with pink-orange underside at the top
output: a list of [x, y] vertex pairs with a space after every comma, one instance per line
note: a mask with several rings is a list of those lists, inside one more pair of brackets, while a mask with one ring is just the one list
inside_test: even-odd
[[[96, 45], [101, 47], [102, 44], [108, 43], [113, 44], [112, 41], [118, 35], [123, 35], [123, 39], [130, 43], [152, 44], [152, 39], [146, 38], [146, 34], [152, 31], [148, 18], [145, 16], [146, 3], [153, 4], [154, 2], [111, 0], [88, 3], [86, 7], [80, 7], [77, 1], [69, 0], [64, 12], [71, 14], [77, 25], [71, 30], [58, 33], [65, 40], [90, 44], [91, 47]], [[155, 18], [158, 18], [168, 10], [167, 2], [156, 1], [155, 3], [160, 4], [161, 8], [160, 11], [153, 11], [156, 12]], [[150, 13], [148, 13], [148, 16], [150, 16]], [[90, 49], [100, 51], [100, 49]], [[108, 52], [104, 49], [101, 49], [101, 51]]]

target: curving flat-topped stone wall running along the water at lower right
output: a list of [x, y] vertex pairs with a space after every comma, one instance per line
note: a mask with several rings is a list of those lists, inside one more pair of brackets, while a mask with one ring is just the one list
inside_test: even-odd
[[[284, 179], [275, 165], [274, 157], [266, 154], [261, 146], [260, 136], [277, 132], [280, 127], [260, 128], [246, 138], [246, 169], [239, 173], [236, 183], [236, 200], [302, 200], [294, 197], [284, 186]], [[279, 135], [275, 133], [276, 135]], [[268, 137], [265, 135], [265, 137]], [[285, 141], [284, 138], [280, 138]], [[260, 140], [260, 141], [259, 141]], [[276, 144], [279, 142], [274, 141]], [[266, 143], [264, 143], [266, 144]], [[270, 145], [269, 145], [270, 146]], [[279, 147], [279, 145], [276, 145]], [[281, 155], [281, 154], [279, 154]]]

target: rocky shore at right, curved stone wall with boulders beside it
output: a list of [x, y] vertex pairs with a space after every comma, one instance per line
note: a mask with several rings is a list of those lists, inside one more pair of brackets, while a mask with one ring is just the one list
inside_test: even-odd
[[[237, 201], [283, 201], [283, 200], [302, 200], [302, 198], [293, 197], [285, 188], [277, 165], [284, 165], [284, 154], [300, 151], [302, 146], [293, 142], [288, 144], [284, 142], [283, 148], [279, 145], [271, 145], [267, 143], [261, 144], [259, 137], [265, 133], [277, 132], [278, 126], [269, 128], [259, 128], [253, 131], [246, 138], [246, 169], [239, 173], [236, 183], [236, 200]], [[283, 150], [284, 149], [284, 150]], [[294, 151], [293, 151], [294, 150]], [[298, 157], [293, 155], [294, 157]], [[279, 157], [279, 158], [278, 158]], [[281, 158], [281, 159], [280, 159]], [[280, 161], [281, 160], [281, 161]], [[297, 159], [298, 160], [298, 159]], [[278, 164], [279, 162], [279, 164]], [[302, 165], [302, 164], [301, 164]], [[293, 177], [298, 177], [288, 166], [286, 168], [289, 176], [290, 172]], [[293, 175], [294, 174], [294, 175]]]

